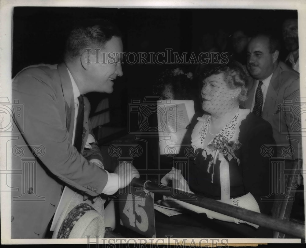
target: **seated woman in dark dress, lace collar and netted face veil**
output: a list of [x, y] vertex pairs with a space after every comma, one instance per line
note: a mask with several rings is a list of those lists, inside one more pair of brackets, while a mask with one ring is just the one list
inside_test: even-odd
[[[182, 190], [270, 214], [273, 202], [260, 200], [270, 195], [270, 161], [262, 147], [271, 144], [273, 153], [275, 141], [268, 122], [248, 109], [239, 108], [241, 101], [247, 99], [247, 79], [244, 67], [237, 62], [218, 67], [204, 77], [201, 96], [206, 113], [195, 114], [180, 151], [180, 156], [184, 156], [188, 154], [186, 149], [192, 148], [194, 154], [188, 156], [187, 165], [175, 168], [162, 182], [171, 180], [174, 171], [181, 170], [180, 178], [176, 179]], [[271, 235], [252, 223], [236, 225], [246, 222], [191, 204], [181, 205], [221, 220], [218, 224], [230, 224], [229, 228], [249, 229], [250, 237]], [[203, 233], [203, 237], [209, 235]]]

